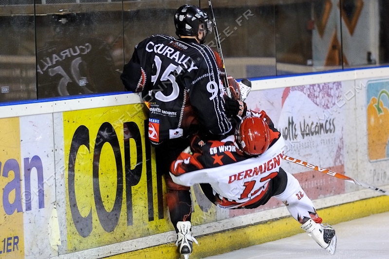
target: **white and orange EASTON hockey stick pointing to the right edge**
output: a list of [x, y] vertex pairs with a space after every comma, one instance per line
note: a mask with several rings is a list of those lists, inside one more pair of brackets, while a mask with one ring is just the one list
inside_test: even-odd
[[358, 180], [356, 180], [356, 179], [352, 179], [352, 178], [347, 177], [347, 176], [345, 176], [345, 175], [338, 174], [338, 173], [333, 172], [333, 171], [331, 171], [331, 170], [328, 170], [328, 169], [325, 169], [325, 168], [318, 167], [317, 165], [313, 165], [313, 164], [304, 162], [304, 161], [302, 161], [302, 160], [294, 159], [294, 158], [291, 158], [291, 157], [288, 157], [288, 156], [285, 156], [285, 155], [282, 157], [282, 159], [287, 160], [288, 162], [292, 162], [292, 163], [295, 163], [295, 164], [299, 164], [299, 165], [308, 167], [309, 169], [318, 171], [318, 172], [320, 172], [320, 173], [327, 174], [327, 175], [336, 177], [336, 178], [338, 178], [338, 179], [342, 179], [342, 180], [351, 182], [351, 183], [353, 183], [353, 184], [362, 186], [362, 187], [364, 187], [364, 188], [368, 188], [368, 189], [370, 189], [370, 190], [377, 191], [377, 192], [380, 192], [380, 193], [382, 193], [382, 194], [385, 194], [385, 195], [388, 195], [388, 196], [389, 196], [389, 193], [388, 193], [387, 191], [383, 190], [383, 189], [374, 187], [374, 186], [372, 186], [372, 185], [370, 185], [370, 184], [367, 184], [367, 183], [360, 182], [360, 181], [358, 181]]

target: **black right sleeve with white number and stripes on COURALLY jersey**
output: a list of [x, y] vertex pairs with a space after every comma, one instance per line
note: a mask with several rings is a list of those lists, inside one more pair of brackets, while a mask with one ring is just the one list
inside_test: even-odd
[[212, 134], [221, 135], [228, 133], [232, 125], [224, 110], [224, 90], [218, 69], [214, 53], [205, 48], [204, 62], [192, 82], [189, 99], [200, 124]]

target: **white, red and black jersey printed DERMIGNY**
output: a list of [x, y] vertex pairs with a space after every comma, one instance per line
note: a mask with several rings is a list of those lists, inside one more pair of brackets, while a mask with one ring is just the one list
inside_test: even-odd
[[253, 204], [266, 193], [282, 161], [285, 140], [277, 131], [272, 134], [276, 141], [257, 157], [244, 156], [234, 136], [222, 141], [199, 142], [201, 152], [181, 153], [172, 163], [171, 178], [184, 186], [209, 183], [214, 195], [220, 198], [217, 205], [222, 208]]

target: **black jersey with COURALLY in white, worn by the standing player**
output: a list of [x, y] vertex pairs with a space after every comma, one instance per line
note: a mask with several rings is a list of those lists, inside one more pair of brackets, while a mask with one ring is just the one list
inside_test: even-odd
[[[194, 118], [212, 134], [232, 128], [215, 55], [194, 39], [156, 35], [143, 40], [121, 79], [127, 90], [142, 92], [149, 105], [148, 137], [154, 144], [187, 137]], [[185, 112], [188, 106], [192, 112]]]

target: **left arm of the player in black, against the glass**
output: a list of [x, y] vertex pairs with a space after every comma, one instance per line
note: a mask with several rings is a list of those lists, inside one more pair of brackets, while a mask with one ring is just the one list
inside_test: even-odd
[[135, 46], [130, 61], [124, 65], [123, 73], [120, 75], [124, 86], [131, 92], [142, 92], [146, 83], [147, 76], [141, 67], [140, 61], [142, 54], [145, 52], [145, 41]]

